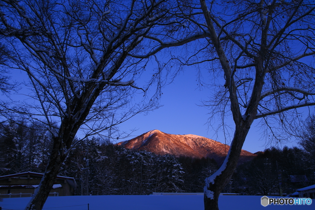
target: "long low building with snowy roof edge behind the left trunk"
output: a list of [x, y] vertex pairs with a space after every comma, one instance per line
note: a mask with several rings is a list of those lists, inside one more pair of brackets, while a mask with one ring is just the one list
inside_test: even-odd
[[[30, 197], [38, 187], [43, 173], [24, 172], [0, 176], [0, 198]], [[49, 196], [72, 196], [77, 183], [72, 177], [57, 176]]]

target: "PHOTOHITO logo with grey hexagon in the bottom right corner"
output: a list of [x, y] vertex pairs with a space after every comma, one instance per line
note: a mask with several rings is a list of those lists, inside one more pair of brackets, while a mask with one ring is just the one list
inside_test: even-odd
[[311, 205], [311, 198], [268, 198], [264, 196], [261, 198], [261, 205]]

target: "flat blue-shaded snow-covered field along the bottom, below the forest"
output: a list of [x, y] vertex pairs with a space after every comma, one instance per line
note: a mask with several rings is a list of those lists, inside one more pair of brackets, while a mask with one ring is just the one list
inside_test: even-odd
[[[0, 206], [24, 209], [30, 198], [5, 198]], [[220, 196], [220, 210], [311, 210], [311, 205], [261, 205], [261, 196]], [[49, 197], [44, 205], [49, 210], [203, 210], [203, 195], [179, 196], [60, 196]], [[80, 206], [82, 205], [82, 206]]]

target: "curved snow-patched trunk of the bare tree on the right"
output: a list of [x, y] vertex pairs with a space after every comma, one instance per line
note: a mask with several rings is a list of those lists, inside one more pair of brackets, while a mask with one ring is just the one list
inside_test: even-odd
[[[230, 150], [217, 172], [215, 172], [210, 177], [206, 178], [206, 184], [208, 195], [210, 193], [211, 196], [207, 196], [207, 192], [204, 194], [204, 209], [205, 210], [219, 210], [218, 207], [218, 199], [221, 191], [224, 189], [225, 185], [229, 183], [234, 173], [234, 170], [237, 166], [238, 158], [241, 154], [243, 143], [245, 141], [246, 135], [249, 131], [250, 126], [246, 124], [249, 123], [247, 121], [243, 123], [243, 126], [237, 126], [234, 138], [230, 147]], [[251, 123], [250, 123], [251, 124]], [[243, 127], [243, 128], [241, 128]], [[207, 181], [208, 179], [208, 181]], [[211, 181], [212, 180], [212, 181]]]

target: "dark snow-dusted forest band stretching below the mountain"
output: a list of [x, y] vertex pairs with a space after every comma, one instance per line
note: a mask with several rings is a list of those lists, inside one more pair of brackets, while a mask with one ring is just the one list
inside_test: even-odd
[[[40, 128], [38, 124], [0, 123], [1, 176], [26, 171], [44, 173], [52, 138]], [[305, 139], [306, 142], [310, 143]], [[287, 195], [315, 184], [311, 156], [301, 145], [301, 148], [271, 147], [257, 152], [252, 160], [237, 166], [222, 192], [279, 193], [279, 173], [282, 191]], [[153, 192], [203, 192], [204, 179], [219, 167], [211, 158], [159, 156], [90, 138], [77, 143], [59, 175], [75, 178], [78, 187], [74, 195], [149, 195]]]

